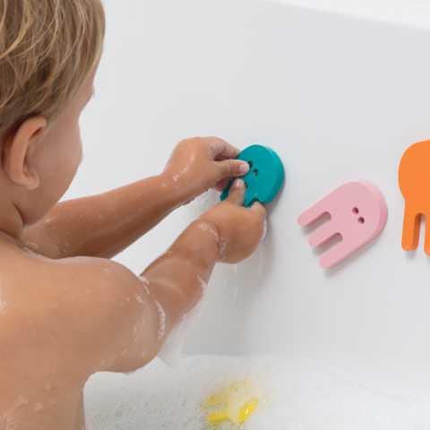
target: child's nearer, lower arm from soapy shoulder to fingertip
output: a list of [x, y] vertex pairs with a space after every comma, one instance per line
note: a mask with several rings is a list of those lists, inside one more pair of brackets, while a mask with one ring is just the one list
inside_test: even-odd
[[[145, 280], [105, 259], [47, 260], [61, 268], [59, 281], [73, 281], [75, 288], [73, 299], [64, 304], [62, 320], [68, 322], [72, 319], [68, 314], [73, 315], [70, 327], [76, 336], [72, 341], [67, 333], [64, 344], [78, 345], [73, 347], [77, 367], [92, 374], [145, 366], [201, 297], [202, 282], [210, 279], [220, 251], [225, 262], [239, 262], [254, 252], [262, 237], [265, 210], [258, 202], [251, 209], [241, 206], [245, 185], [239, 182], [228, 199], [206, 211], [150, 264], [143, 272]], [[59, 296], [62, 290], [59, 286]]]

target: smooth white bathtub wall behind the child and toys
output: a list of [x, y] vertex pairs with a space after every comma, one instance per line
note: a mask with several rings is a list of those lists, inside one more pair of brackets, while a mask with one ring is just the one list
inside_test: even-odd
[[[106, 3], [85, 159], [66, 198], [156, 175], [195, 135], [268, 145], [286, 168], [266, 239], [236, 268], [216, 267], [184, 352], [305, 358], [377, 389], [429, 394], [430, 260], [422, 240], [401, 249], [397, 173], [409, 145], [430, 139], [430, 8], [374, 1], [384, 20], [328, 0]], [[307, 244], [315, 228], [297, 216], [360, 179], [382, 191], [387, 226], [324, 271]], [[140, 273], [207, 203], [176, 211], [117, 261]]]

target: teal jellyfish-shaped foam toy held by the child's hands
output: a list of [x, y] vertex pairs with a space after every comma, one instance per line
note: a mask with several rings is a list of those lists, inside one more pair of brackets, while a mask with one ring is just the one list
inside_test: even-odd
[[[276, 152], [267, 146], [252, 145], [245, 148], [237, 159], [246, 161], [250, 167], [245, 176], [237, 176], [247, 185], [244, 206], [249, 208], [256, 200], [270, 203], [284, 180], [284, 167]], [[221, 200], [227, 199], [234, 179], [221, 193]]]

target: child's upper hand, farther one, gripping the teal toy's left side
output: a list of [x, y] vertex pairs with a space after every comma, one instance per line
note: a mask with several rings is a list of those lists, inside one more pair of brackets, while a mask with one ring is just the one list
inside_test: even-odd
[[193, 200], [211, 187], [222, 191], [232, 176], [249, 172], [248, 163], [236, 160], [239, 153], [217, 137], [185, 139], [176, 145], [162, 174], [185, 191], [185, 200]]

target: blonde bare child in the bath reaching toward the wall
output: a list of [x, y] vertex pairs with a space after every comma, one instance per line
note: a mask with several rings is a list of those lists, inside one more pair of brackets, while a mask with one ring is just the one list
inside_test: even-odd
[[156, 357], [217, 260], [254, 252], [265, 210], [242, 207], [237, 179], [144, 278], [110, 261], [249, 167], [227, 142], [188, 139], [158, 176], [56, 204], [82, 160], [78, 121], [99, 64], [103, 8], [0, 0], [0, 17], [0, 429], [82, 430], [90, 375], [131, 372]]

